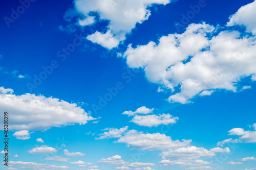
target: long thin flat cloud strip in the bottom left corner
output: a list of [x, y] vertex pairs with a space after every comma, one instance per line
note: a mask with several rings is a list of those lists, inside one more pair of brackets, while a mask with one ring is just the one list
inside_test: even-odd
[[22, 161], [10, 161], [10, 165], [13, 166], [20, 166], [20, 168], [24, 169], [69, 169], [68, 166], [56, 166], [56, 165], [48, 165], [42, 163], [35, 163], [35, 162], [22, 162]]

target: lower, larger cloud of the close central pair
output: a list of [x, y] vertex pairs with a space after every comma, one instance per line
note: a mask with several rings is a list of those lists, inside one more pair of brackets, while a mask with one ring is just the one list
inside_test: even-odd
[[173, 117], [170, 114], [159, 114], [159, 115], [136, 115], [133, 117], [131, 122], [139, 126], [157, 127], [159, 125], [176, 124], [179, 117]]

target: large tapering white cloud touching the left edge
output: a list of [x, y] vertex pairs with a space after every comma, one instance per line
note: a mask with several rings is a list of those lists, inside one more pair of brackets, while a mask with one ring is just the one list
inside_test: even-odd
[[15, 95], [12, 91], [2, 88], [0, 94], [0, 108], [5, 108], [11, 113], [11, 129], [47, 130], [51, 127], [83, 125], [88, 120], [95, 119], [75, 103], [30, 93]]

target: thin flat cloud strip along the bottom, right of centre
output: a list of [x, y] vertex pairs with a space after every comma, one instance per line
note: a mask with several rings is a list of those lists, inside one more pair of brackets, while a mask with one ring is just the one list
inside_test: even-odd
[[201, 159], [196, 159], [196, 160], [161, 160], [159, 162], [160, 164], [163, 164], [163, 166], [200, 166], [200, 165], [208, 165], [210, 162], [203, 161]]

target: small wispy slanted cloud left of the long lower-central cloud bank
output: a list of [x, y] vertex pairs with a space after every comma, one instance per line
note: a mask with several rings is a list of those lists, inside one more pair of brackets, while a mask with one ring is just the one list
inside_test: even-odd
[[128, 129], [128, 127], [123, 127], [120, 129], [114, 128], [106, 128], [103, 131], [108, 131], [100, 134], [101, 136], [95, 139], [104, 139], [104, 138], [113, 138], [113, 137], [121, 137], [121, 135]]

